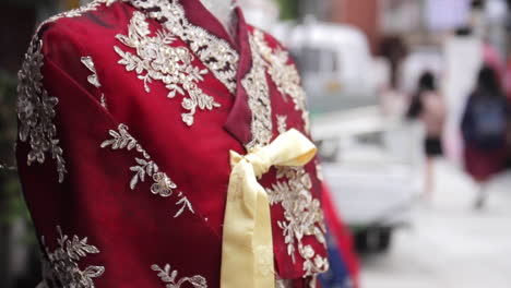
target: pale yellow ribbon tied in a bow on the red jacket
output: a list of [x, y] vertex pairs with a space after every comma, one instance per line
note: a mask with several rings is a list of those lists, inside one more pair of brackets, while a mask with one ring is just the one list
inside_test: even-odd
[[316, 151], [314, 144], [292, 129], [246, 156], [230, 152], [233, 170], [224, 218], [222, 288], [275, 287], [270, 202], [257, 178], [274, 165], [304, 166]]

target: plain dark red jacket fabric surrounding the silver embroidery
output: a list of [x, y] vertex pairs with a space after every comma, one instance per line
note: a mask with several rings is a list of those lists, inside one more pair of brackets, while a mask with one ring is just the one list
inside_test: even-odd
[[[212, 25], [214, 33], [219, 23], [199, 5], [185, 1], [197, 24]], [[190, 9], [188, 7], [188, 9]], [[243, 144], [250, 137], [251, 112], [246, 92], [238, 83], [236, 95], [213, 76], [204, 75], [200, 88], [212, 95], [222, 107], [211, 111], [199, 110], [195, 123], [187, 127], [181, 121], [181, 97], [168, 99], [168, 91], [159, 81], [150, 84], [151, 93], [144, 91], [143, 81], [134, 72], [127, 72], [119, 64], [120, 57], [114, 46], [122, 46], [116, 35], [127, 35], [134, 8], [116, 2], [102, 5], [97, 11], [82, 16], [60, 19], [45, 25], [39, 37], [44, 43], [44, 86], [49, 95], [59, 99], [54, 120], [57, 136], [67, 160], [66, 180], [57, 182], [56, 163], [49, 155], [44, 165], [26, 165], [29, 146], [19, 142], [17, 159], [21, 181], [37, 233], [44, 236], [50, 251], [57, 248], [57, 226], [64, 233], [81, 238], [97, 247], [100, 253], [80, 261], [80, 267], [105, 266], [102, 277], [94, 278], [96, 287], [163, 287], [151, 265], [170, 264], [180, 277], [201, 275], [207, 287], [218, 287], [222, 248], [222, 224], [230, 172], [229, 151], [245, 154]], [[161, 28], [156, 21], [148, 20], [152, 32]], [[247, 26], [240, 14], [238, 47], [240, 69], [238, 82], [248, 72], [251, 60]], [[225, 36], [224, 36], [225, 37]], [[228, 39], [227, 39], [228, 40]], [[268, 36], [272, 48], [278, 46]], [[187, 45], [177, 40], [174, 45]], [[134, 49], [123, 47], [135, 53]], [[87, 82], [91, 75], [81, 62], [81, 57], [91, 56], [96, 64], [100, 89]], [[194, 59], [195, 67], [205, 69]], [[276, 115], [287, 116], [288, 128], [304, 131], [301, 112], [293, 101], [284, 100], [269, 77], [272, 100], [274, 136], [278, 135]], [[100, 106], [102, 94], [108, 110]], [[194, 214], [173, 218], [179, 209], [177, 197], [161, 197], [151, 194], [151, 179], [141, 182], [134, 191], [129, 183], [133, 177], [130, 167], [136, 165], [140, 154], [132, 149], [111, 151], [100, 148], [102, 142], [111, 139], [110, 130], [120, 123], [129, 127], [152, 159], [167, 173], [191, 202]], [[311, 176], [312, 195], [320, 197], [321, 183], [316, 166], [306, 166]], [[270, 188], [275, 183], [275, 169], [260, 181]], [[177, 191], [175, 192], [177, 193]], [[296, 262], [287, 254], [282, 228], [284, 219], [281, 205], [272, 206], [274, 252], [276, 268], [282, 278], [304, 276], [304, 261], [296, 254]], [[325, 257], [325, 249], [314, 237], [306, 236], [304, 244]], [[297, 280], [296, 287], [305, 280]]]

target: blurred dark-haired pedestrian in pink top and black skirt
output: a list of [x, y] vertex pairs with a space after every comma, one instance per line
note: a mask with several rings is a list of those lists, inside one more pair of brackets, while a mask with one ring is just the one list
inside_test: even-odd
[[426, 154], [425, 192], [429, 197], [435, 188], [435, 158], [443, 155], [442, 133], [445, 111], [445, 103], [442, 95], [438, 93], [435, 75], [431, 72], [423, 73], [417, 84], [417, 92], [412, 98], [407, 117], [423, 121], [426, 128], [424, 140]]

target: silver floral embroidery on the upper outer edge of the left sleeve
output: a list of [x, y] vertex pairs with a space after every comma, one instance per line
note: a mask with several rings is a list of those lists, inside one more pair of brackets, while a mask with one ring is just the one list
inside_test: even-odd
[[44, 56], [43, 41], [35, 38], [25, 55], [22, 69], [17, 73], [17, 118], [20, 119], [20, 140], [29, 142], [31, 152], [27, 164], [45, 163], [46, 153], [57, 163], [59, 182], [62, 183], [66, 160], [62, 148], [57, 139], [57, 128], [54, 124], [55, 107], [59, 103], [57, 97], [48, 95], [43, 85], [41, 68]]

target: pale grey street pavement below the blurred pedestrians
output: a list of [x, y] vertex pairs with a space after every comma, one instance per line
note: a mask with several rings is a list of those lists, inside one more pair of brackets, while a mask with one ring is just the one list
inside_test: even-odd
[[361, 288], [511, 288], [511, 173], [477, 187], [459, 167], [436, 166], [431, 200], [418, 201], [412, 226], [397, 230], [384, 254], [361, 260]]

